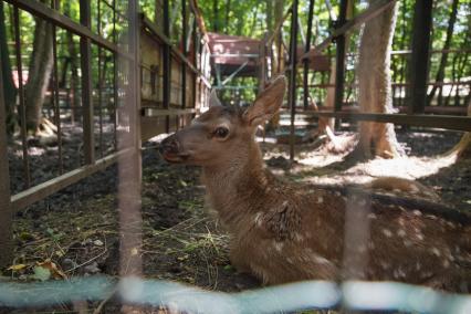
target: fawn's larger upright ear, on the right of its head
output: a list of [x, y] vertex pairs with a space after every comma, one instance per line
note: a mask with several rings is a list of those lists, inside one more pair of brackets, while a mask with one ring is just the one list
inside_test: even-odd
[[257, 96], [255, 102], [243, 114], [244, 119], [253, 126], [270, 119], [283, 104], [285, 91], [286, 77], [280, 75]]

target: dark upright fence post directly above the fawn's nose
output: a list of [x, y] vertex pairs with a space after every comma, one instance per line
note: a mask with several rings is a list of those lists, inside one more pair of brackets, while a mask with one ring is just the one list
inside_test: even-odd
[[[164, 2], [164, 34], [167, 38], [170, 38], [170, 18], [169, 18], [169, 1]], [[168, 109], [170, 106], [170, 97], [171, 97], [171, 55], [170, 55], [170, 46], [164, 43], [164, 76], [163, 76], [163, 86], [164, 86], [164, 108]], [[170, 129], [169, 125], [169, 116], [166, 117], [166, 132], [168, 133]]]

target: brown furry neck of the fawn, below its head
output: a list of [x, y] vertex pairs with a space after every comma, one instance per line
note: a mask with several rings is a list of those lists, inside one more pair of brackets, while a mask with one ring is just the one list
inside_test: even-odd
[[265, 197], [269, 177], [259, 145], [234, 153], [227, 165], [203, 167], [202, 179], [212, 209], [228, 227], [242, 222], [254, 210], [252, 202]]

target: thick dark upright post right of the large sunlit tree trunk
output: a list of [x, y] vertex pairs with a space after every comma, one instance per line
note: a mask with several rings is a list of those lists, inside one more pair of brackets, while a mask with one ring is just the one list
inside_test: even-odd
[[410, 87], [408, 88], [409, 114], [423, 113], [426, 107], [432, 2], [417, 0], [414, 11], [412, 54], [409, 63]]

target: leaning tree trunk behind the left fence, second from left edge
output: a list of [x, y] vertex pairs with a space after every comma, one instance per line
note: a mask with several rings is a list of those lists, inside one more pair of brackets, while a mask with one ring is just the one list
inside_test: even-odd
[[[44, 0], [41, 2], [46, 3]], [[24, 85], [27, 129], [32, 134], [38, 133], [41, 124], [42, 106], [51, 76], [52, 61], [52, 27], [43, 19], [38, 18], [28, 82]]]

